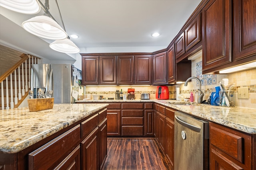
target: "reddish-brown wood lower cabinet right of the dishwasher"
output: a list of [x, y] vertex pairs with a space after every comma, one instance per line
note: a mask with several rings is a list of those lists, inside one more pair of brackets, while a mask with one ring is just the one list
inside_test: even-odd
[[255, 170], [255, 136], [212, 122], [209, 129], [210, 170]]

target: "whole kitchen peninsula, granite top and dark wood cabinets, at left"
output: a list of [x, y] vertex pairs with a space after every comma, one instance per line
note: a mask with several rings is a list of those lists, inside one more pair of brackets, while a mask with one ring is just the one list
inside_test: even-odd
[[102, 166], [106, 106], [54, 104], [53, 109], [37, 112], [28, 107], [1, 110], [0, 169]]

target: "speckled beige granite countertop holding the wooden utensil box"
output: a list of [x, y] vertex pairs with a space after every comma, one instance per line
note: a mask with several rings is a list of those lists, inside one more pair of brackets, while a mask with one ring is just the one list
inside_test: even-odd
[[103, 109], [108, 104], [54, 104], [30, 112], [28, 107], [0, 110], [0, 153], [19, 152]]

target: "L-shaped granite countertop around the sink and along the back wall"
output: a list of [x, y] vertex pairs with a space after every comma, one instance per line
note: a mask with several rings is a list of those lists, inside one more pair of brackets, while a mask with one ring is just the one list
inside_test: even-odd
[[[76, 102], [155, 102], [245, 133], [256, 134], [256, 109], [220, 107], [177, 100], [78, 100]], [[175, 105], [175, 103], [190, 105]]]

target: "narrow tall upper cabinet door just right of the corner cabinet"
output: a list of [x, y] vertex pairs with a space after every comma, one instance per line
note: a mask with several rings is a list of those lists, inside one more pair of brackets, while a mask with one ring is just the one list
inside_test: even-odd
[[168, 83], [175, 81], [175, 50], [174, 44], [167, 51]]

